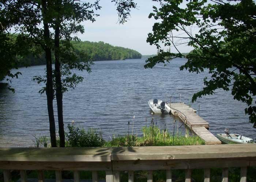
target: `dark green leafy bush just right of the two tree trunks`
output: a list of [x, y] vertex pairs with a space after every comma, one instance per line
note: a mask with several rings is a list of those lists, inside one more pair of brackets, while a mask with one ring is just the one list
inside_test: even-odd
[[96, 130], [80, 130], [74, 125], [68, 124], [67, 146], [68, 147], [101, 147], [104, 144], [101, 134], [97, 134]]

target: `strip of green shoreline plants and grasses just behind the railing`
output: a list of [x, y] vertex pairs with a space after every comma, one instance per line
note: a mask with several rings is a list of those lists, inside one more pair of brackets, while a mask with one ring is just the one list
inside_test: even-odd
[[[134, 132], [133, 132], [134, 131]], [[65, 132], [65, 147], [135, 147], [135, 146], [181, 146], [181, 145], [205, 145], [204, 141], [197, 135], [181, 135], [179, 131], [169, 132], [151, 122], [149, 126], [141, 128], [142, 136], [131, 128], [128, 123], [128, 131], [125, 135], [112, 135], [108, 141], [102, 138], [102, 131], [90, 128], [84, 130], [75, 127], [74, 122], [68, 124], [68, 132]], [[56, 134], [56, 137], [58, 134]], [[33, 135], [35, 147], [51, 147], [49, 138]], [[57, 146], [59, 146], [57, 137]]]

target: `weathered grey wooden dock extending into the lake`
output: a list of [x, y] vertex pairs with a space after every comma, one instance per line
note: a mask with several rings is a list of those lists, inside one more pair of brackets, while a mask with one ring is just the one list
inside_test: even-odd
[[170, 103], [171, 112], [174, 116], [178, 116], [191, 130], [202, 138], [206, 145], [221, 144], [208, 129], [209, 123], [196, 114], [196, 110], [184, 103]]

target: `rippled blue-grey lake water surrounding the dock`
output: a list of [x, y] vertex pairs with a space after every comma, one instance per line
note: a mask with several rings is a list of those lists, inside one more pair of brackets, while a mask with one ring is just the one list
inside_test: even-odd
[[[103, 137], [108, 140], [113, 135], [124, 135], [134, 122], [134, 132], [142, 134], [140, 129], [151, 120], [148, 100], [158, 98], [165, 100], [172, 95], [172, 102], [189, 103], [189, 97], [203, 88], [203, 78], [207, 72], [193, 74], [180, 71], [179, 67], [185, 59], [175, 59], [166, 67], [158, 64], [153, 69], [144, 69], [145, 59], [130, 59], [117, 61], [99, 61], [92, 66], [92, 72], [78, 72], [84, 77], [75, 90], [69, 90], [63, 95], [64, 124], [75, 121], [81, 128], [98, 128]], [[38, 91], [43, 86], [32, 81], [35, 75], [44, 75], [45, 66], [20, 68], [22, 76], [14, 79], [11, 86], [13, 94], [6, 87], [0, 89], [0, 146], [33, 146], [33, 135], [49, 135], [49, 122], [46, 95]], [[169, 97], [167, 97], [169, 102]], [[57, 114], [54, 100], [55, 115]], [[244, 114], [245, 103], [233, 100], [231, 92], [216, 91], [214, 95], [203, 96], [192, 103], [200, 116], [210, 123], [213, 134], [224, 132], [225, 127], [231, 133], [243, 134], [253, 138], [255, 129]], [[198, 113], [198, 111], [197, 111]], [[133, 120], [133, 116], [135, 119]], [[173, 131], [171, 115], [153, 115], [155, 122], [161, 128]], [[57, 115], [56, 130], [57, 125]], [[176, 122], [179, 127], [182, 122]], [[184, 134], [185, 127], [179, 132]]]

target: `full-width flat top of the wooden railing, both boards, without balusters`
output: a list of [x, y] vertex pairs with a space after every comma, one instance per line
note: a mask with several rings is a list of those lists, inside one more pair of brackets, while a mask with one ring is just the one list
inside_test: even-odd
[[0, 161], [111, 162], [245, 157], [256, 157], [256, 144], [114, 148], [0, 148]]

